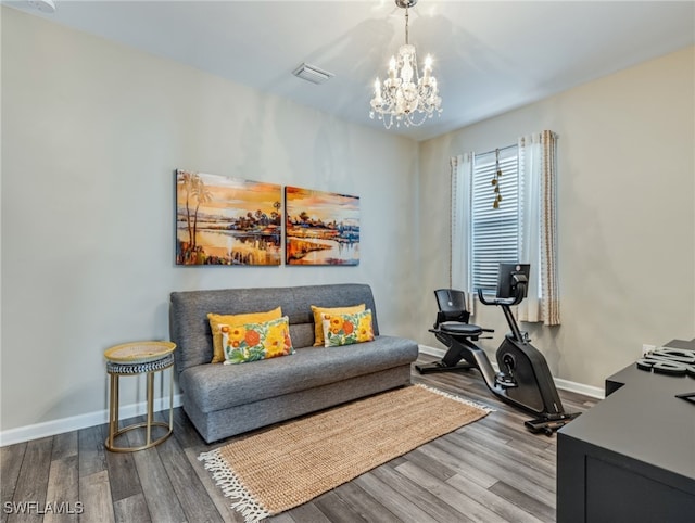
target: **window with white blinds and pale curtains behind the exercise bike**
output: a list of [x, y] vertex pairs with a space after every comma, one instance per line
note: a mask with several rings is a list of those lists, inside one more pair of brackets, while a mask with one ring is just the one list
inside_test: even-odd
[[[516, 145], [451, 158], [450, 285], [468, 293], [494, 292], [500, 263], [531, 264], [520, 321], [560, 324], [557, 270], [557, 135], [520, 137]], [[493, 208], [497, 164], [502, 202]]]

